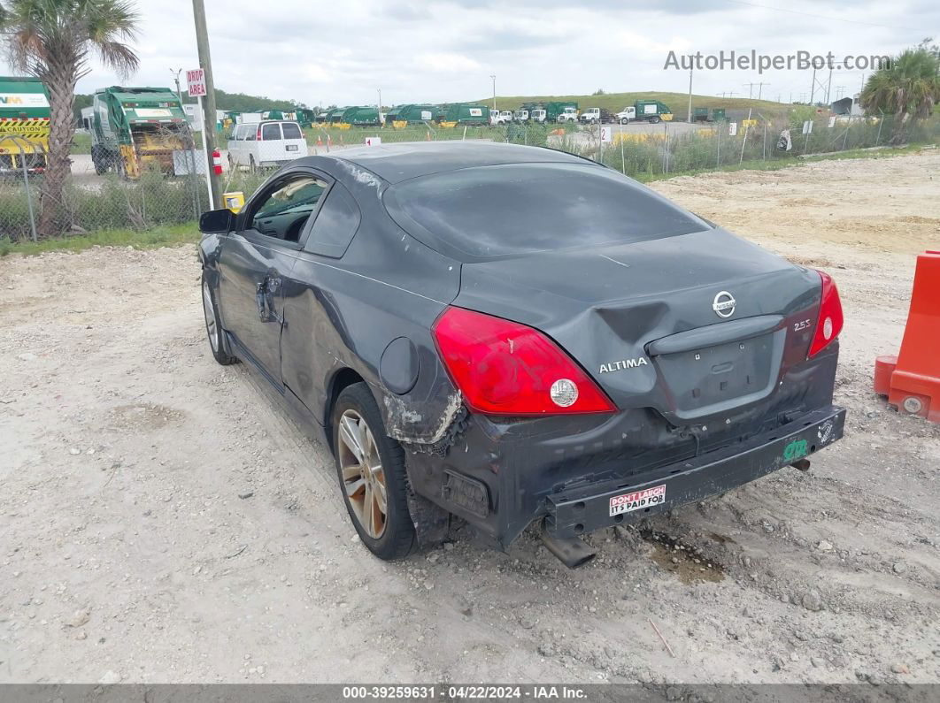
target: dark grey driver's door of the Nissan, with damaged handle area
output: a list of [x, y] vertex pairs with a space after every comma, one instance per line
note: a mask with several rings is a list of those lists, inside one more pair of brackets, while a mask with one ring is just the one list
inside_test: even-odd
[[277, 387], [282, 385], [282, 283], [328, 188], [325, 176], [307, 170], [277, 177], [251, 198], [219, 257], [223, 327], [240, 356], [254, 361]]

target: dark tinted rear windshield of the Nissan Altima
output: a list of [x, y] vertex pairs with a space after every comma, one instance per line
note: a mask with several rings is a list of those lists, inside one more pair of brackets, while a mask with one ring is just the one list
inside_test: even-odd
[[389, 188], [384, 203], [425, 244], [478, 258], [710, 229], [626, 176], [590, 164], [522, 163], [422, 176]]

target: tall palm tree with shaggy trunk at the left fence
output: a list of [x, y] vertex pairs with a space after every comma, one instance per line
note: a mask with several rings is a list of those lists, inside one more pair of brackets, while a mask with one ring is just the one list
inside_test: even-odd
[[125, 43], [136, 36], [137, 20], [128, 0], [0, 0], [0, 32], [10, 65], [49, 90], [49, 154], [39, 218], [45, 237], [71, 225], [62, 195], [71, 172], [75, 84], [91, 70], [93, 53], [118, 75], [137, 69], [137, 54]]

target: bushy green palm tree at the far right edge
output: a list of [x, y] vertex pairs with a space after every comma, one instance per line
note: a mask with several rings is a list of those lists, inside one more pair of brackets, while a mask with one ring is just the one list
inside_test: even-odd
[[859, 101], [869, 112], [895, 115], [891, 141], [902, 141], [909, 123], [929, 117], [940, 102], [940, 59], [923, 45], [902, 52], [871, 74]]

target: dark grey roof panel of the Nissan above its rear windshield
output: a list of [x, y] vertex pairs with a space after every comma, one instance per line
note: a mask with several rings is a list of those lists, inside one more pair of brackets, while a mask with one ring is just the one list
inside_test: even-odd
[[389, 183], [475, 166], [507, 163], [591, 163], [589, 160], [555, 149], [479, 140], [361, 146], [322, 156], [351, 162]]

